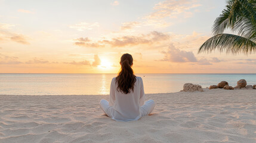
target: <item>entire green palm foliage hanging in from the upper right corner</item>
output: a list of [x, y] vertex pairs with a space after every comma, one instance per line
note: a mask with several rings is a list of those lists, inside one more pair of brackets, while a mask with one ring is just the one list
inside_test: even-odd
[[[231, 29], [238, 35], [223, 34]], [[214, 21], [212, 32], [215, 36], [199, 48], [200, 52], [215, 49], [233, 54], [251, 54], [256, 51], [256, 0], [229, 0], [226, 9]]]

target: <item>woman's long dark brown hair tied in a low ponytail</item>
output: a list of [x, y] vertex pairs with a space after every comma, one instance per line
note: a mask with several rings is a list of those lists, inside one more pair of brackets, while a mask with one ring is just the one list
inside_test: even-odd
[[128, 94], [131, 92], [129, 89], [132, 89], [134, 92], [134, 83], [136, 82], [136, 76], [131, 69], [133, 58], [130, 54], [124, 54], [121, 57], [121, 71], [119, 71], [118, 76], [116, 77], [116, 83], [118, 83], [117, 90]]

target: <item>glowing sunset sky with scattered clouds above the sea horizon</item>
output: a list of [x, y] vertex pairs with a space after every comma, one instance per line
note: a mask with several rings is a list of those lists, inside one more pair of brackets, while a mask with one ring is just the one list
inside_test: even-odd
[[[0, 0], [0, 73], [255, 73], [256, 54], [198, 54], [224, 0]], [[229, 33], [229, 31], [226, 31]]]

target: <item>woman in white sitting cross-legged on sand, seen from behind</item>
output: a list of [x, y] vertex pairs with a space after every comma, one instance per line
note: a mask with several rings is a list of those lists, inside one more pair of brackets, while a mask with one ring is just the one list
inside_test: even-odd
[[[131, 69], [133, 59], [130, 54], [121, 57], [121, 71], [112, 79], [110, 102], [100, 101], [100, 108], [113, 120], [132, 121], [147, 116], [155, 107], [153, 100], [146, 101], [143, 81]], [[144, 104], [144, 105], [143, 105]]]

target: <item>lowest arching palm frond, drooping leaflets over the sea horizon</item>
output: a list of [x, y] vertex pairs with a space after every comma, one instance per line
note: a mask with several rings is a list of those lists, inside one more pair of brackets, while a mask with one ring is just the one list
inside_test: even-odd
[[242, 36], [232, 34], [219, 34], [208, 39], [199, 48], [198, 53], [212, 52], [218, 49], [220, 52], [226, 51], [232, 54], [252, 54], [256, 51], [256, 43]]

